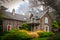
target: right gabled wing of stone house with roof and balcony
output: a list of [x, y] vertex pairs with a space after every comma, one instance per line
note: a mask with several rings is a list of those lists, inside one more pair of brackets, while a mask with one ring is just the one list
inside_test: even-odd
[[28, 23], [31, 25], [32, 31], [44, 30], [45, 32], [49, 32], [52, 28], [52, 18], [47, 11], [34, 13]]

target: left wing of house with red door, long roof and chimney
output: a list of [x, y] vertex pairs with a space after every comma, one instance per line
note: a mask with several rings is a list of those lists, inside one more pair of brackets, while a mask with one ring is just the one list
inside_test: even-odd
[[25, 17], [15, 13], [15, 10], [11, 12], [5, 12], [3, 18], [0, 20], [0, 25], [3, 26], [3, 31], [8, 31], [13, 28], [21, 27], [21, 24], [25, 22]]

